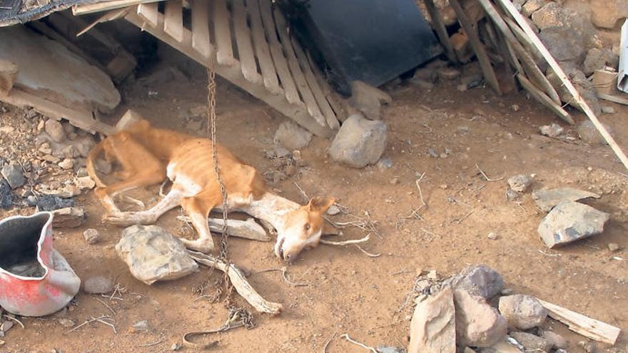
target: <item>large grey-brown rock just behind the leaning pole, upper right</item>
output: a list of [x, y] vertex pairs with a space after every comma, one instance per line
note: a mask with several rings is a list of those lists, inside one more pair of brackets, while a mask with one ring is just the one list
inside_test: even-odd
[[544, 29], [539, 37], [557, 61], [580, 61], [584, 56], [584, 39], [568, 27]]

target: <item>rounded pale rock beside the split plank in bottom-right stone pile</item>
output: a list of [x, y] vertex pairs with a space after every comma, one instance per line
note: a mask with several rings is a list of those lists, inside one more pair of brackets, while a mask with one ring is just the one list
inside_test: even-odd
[[547, 319], [545, 307], [530, 295], [500, 297], [500, 313], [506, 318], [508, 326], [515, 329], [538, 327]]

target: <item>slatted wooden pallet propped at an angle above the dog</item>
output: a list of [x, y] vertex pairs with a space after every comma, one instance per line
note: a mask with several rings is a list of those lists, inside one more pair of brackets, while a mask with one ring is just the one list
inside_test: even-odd
[[[243, 88], [315, 135], [339, 128], [330, 90], [270, 0], [139, 4], [125, 19]], [[163, 9], [162, 9], [163, 8]], [[184, 16], [190, 12], [190, 16]], [[190, 19], [184, 21], [184, 19]], [[327, 94], [325, 93], [327, 92]]]

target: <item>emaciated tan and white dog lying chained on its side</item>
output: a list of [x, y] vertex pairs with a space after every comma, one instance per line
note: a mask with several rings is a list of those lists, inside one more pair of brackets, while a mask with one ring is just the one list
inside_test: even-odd
[[[116, 174], [123, 179], [121, 182], [107, 186], [98, 178], [94, 161], [101, 153], [108, 161], [121, 165], [123, 170]], [[208, 215], [222, 205], [211, 155], [211, 140], [153, 128], [145, 120], [109, 135], [91, 150], [86, 161], [88, 174], [96, 181], [96, 196], [106, 209], [103, 220], [121, 226], [152, 224], [163, 213], [181, 205], [198, 232], [198, 239], [181, 241], [192, 250], [210, 252], [214, 243]], [[308, 205], [298, 205], [270, 193], [257, 170], [223, 146], [216, 145], [216, 155], [228, 193], [228, 210], [248, 213], [273, 225], [277, 230], [275, 255], [292, 261], [301, 250], [318, 245], [323, 215], [334, 199], [316, 197]], [[113, 203], [115, 195], [157, 185], [166, 178], [173, 183], [170, 192], [149, 210], [121, 212]]]

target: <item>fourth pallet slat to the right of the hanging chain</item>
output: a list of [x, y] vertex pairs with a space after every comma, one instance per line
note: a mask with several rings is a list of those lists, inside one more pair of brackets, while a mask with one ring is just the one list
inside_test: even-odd
[[275, 69], [281, 81], [281, 86], [285, 93], [285, 98], [288, 102], [293, 104], [303, 104], [294, 79], [290, 74], [290, 68], [288, 68], [288, 61], [283, 56], [283, 50], [281, 44], [277, 38], [277, 30], [275, 29], [275, 20], [273, 19], [272, 6], [269, 0], [259, 0], [260, 12], [262, 14], [262, 21], [268, 38], [268, 45], [270, 46], [270, 55], [273, 56], [273, 62], [275, 63]]

